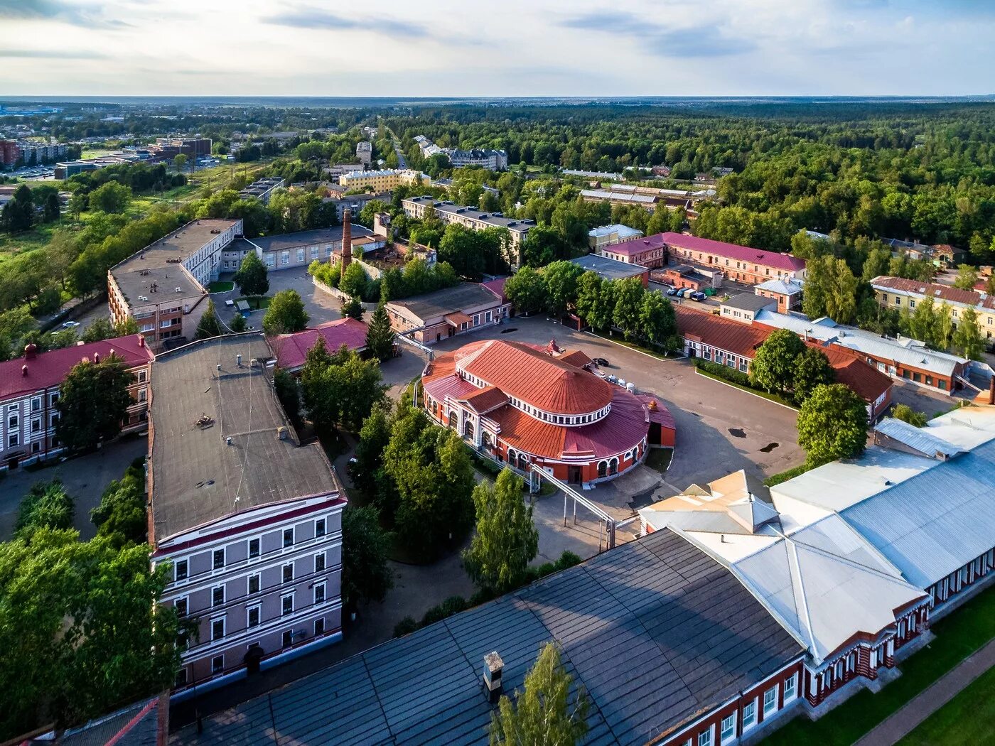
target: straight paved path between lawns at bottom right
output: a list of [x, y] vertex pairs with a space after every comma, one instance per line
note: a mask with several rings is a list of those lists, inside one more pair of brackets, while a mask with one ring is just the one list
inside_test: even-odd
[[905, 702], [901, 709], [854, 746], [893, 746], [992, 666], [995, 666], [995, 640], [965, 657], [952, 670]]

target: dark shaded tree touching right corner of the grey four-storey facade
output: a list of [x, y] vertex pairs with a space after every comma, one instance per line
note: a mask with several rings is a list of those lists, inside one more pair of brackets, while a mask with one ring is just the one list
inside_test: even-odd
[[394, 585], [387, 564], [390, 534], [380, 527], [380, 511], [372, 505], [347, 505], [342, 512], [342, 606], [383, 601]]

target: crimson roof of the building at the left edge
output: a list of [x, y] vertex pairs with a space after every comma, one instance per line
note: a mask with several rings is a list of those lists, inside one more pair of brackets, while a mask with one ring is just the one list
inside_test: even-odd
[[[100, 359], [105, 359], [111, 352], [123, 358], [124, 365], [128, 368], [143, 365], [153, 358], [151, 351], [144, 345], [142, 335], [131, 334], [38, 352], [31, 359], [19, 357], [8, 360], [0, 363], [0, 400], [56, 387], [65, 380], [73, 366], [83, 359], [93, 360], [95, 353], [100, 355]], [[27, 375], [22, 370], [25, 365], [28, 366]]]

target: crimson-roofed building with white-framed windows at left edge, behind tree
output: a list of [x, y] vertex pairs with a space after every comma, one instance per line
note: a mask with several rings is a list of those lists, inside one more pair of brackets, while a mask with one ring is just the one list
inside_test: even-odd
[[29, 344], [23, 357], [0, 363], [0, 468], [26, 466], [62, 453], [56, 436], [59, 387], [73, 366], [83, 360], [99, 363], [110, 355], [121, 358], [133, 376], [128, 387], [132, 404], [121, 423], [122, 432], [145, 427], [152, 352], [142, 335], [48, 352], [37, 352], [35, 345]]

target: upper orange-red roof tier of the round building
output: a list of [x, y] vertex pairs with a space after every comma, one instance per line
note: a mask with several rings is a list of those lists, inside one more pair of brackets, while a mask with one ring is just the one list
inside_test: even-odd
[[527, 344], [489, 339], [460, 348], [458, 369], [545, 412], [597, 412], [612, 400], [611, 384]]

